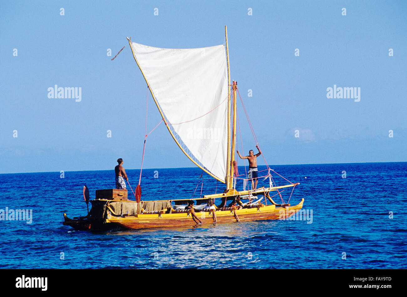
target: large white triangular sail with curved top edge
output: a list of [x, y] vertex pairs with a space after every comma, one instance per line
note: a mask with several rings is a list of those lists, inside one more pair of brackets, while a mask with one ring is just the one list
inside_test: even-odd
[[[134, 55], [171, 131], [197, 163], [226, 177], [228, 70], [223, 45], [155, 48], [132, 42]], [[187, 150], [186, 150], [187, 151]]]

